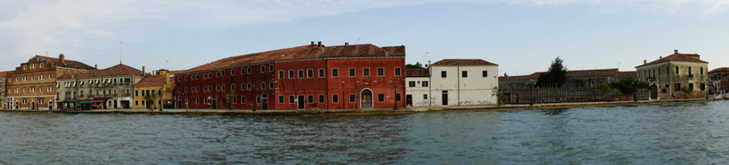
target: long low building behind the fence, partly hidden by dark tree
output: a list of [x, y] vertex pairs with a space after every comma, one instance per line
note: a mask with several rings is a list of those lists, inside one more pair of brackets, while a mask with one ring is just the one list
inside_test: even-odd
[[[499, 86], [504, 89], [531, 87], [537, 83], [541, 73], [545, 72], [531, 73], [525, 76], [500, 76]], [[637, 77], [638, 73], [636, 71], [618, 71], [617, 68], [576, 70], [567, 72], [565, 86], [596, 87], [599, 84], [613, 83], [624, 79], [635, 80]]]

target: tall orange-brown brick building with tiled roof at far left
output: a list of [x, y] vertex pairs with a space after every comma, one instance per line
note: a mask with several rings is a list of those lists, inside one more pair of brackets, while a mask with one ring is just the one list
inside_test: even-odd
[[7, 101], [11, 109], [52, 109], [57, 98], [56, 78], [78, 74], [95, 68], [74, 60], [36, 55], [7, 73]]

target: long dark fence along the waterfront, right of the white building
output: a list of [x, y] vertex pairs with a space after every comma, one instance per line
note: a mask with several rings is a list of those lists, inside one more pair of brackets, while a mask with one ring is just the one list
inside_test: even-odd
[[557, 103], [557, 102], [604, 102], [648, 100], [648, 89], [638, 89], [634, 94], [624, 94], [617, 89], [596, 87], [551, 87], [500, 89], [506, 104]]

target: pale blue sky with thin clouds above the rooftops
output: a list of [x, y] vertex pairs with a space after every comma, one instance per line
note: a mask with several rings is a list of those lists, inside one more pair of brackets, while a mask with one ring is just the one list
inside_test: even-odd
[[483, 59], [501, 75], [635, 71], [678, 49], [729, 67], [728, 0], [0, 1], [0, 71], [34, 55], [187, 70], [322, 41], [405, 45], [407, 63]]

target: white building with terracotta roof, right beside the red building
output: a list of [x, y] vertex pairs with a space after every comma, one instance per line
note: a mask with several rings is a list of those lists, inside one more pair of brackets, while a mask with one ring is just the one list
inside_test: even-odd
[[440, 60], [426, 69], [408, 69], [406, 102], [413, 107], [494, 105], [499, 65], [485, 60]]

